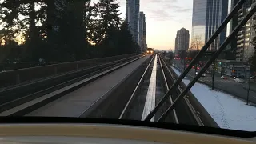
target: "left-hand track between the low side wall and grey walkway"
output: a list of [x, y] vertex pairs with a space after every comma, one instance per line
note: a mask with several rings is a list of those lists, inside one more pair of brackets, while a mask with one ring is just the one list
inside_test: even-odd
[[118, 70], [122, 66], [126, 66], [127, 64], [142, 57], [144, 56], [125, 58], [116, 62], [107, 63], [106, 65], [95, 66], [98, 69], [95, 69], [95, 67], [93, 69], [89, 69], [78, 78], [73, 78], [69, 81], [58, 83], [56, 86], [47, 87], [46, 89], [38, 90], [32, 94], [19, 96], [18, 98], [14, 97], [11, 99], [1, 96], [5, 101], [1, 101], [2, 104], [0, 105], [0, 115], [20, 116], [28, 114], [30, 111], [36, 110], [39, 107], [62, 97], [62, 95], [68, 94], [71, 91], [74, 91], [79, 87], [88, 84], [89, 82], [93, 82], [106, 74], [110, 74], [112, 71]]

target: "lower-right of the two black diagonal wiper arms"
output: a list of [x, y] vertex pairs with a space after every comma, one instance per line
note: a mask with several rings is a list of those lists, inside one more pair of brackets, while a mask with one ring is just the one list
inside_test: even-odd
[[162, 121], [162, 119], [166, 118], [166, 115], [169, 113], [170, 110], [174, 109], [174, 106], [177, 105], [178, 101], [182, 100], [184, 95], [190, 90], [192, 86], [194, 86], [194, 83], [198, 81], [202, 73], [206, 71], [206, 69], [211, 65], [216, 58], [218, 58], [218, 55], [222, 53], [222, 50], [225, 50], [226, 46], [230, 43], [231, 39], [235, 37], [236, 34], [238, 34], [238, 31], [246, 24], [246, 22], [250, 19], [250, 17], [255, 13], [256, 6], [253, 6], [251, 10], [246, 14], [246, 16], [242, 19], [241, 22], [238, 23], [238, 26], [235, 27], [235, 29], [232, 31], [230, 36], [226, 38], [226, 40], [222, 43], [222, 45], [219, 47], [219, 49], [215, 52], [215, 54], [210, 58], [208, 62], [206, 62], [206, 65], [202, 67], [202, 70], [199, 71], [198, 75], [186, 86], [186, 89], [182, 91], [181, 94], [178, 95], [178, 98], [175, 99], [174, 103], [169, 106], [169, 108], [166, 110], [165, 113], [162, 114], [162, 116], [158, 119], [158, 121]]

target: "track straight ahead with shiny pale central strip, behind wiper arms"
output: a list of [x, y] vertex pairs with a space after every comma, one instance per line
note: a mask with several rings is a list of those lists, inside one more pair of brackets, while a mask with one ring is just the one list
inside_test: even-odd
[[[146, 67], [146, 70], [142, 74], [142, 78], [139, 80], [137, 86], [135, 87], [133, 93], [130, 96], [129, 101], [126, 103], [126, 106], [124, 106], [124, 108], [122, 109], [122, 113], [119, 115], [119, 119], [137, 119], [138, 120], [137, 115], [139, 111], [141, 111], [138, 109], [142, 109], [142, 106], [138, 106], [138, 105], [141, 104], [139, 102], [143, 101], [142, 96], [140, 96], [139, 94], [143, 92], [142, 91], [143, 89], [145, 89], [145, 87], [142, 87], [143, 82], [148, 78], [148, 75], [150, 72], [150, 66], [152, 66], [152, 63], [153, 63], [153, 58], [151, 59], [150, 63]], [[166, 66], [166, 62], [162, 60], [159, 54], [158, 54], [158, 66], [159, 66], [158, 70], [160, 71], [160, 73], [158, 74], [161, 74], [161, 76], [158, 75], [158, 78], [162, 78], [161, 79], [163, 83], [162, 86], [164, 86], [163, 89], [165, 89], [164, 92], [166, 92], [167, 90], [169, 90], [169, 87], [171, 86], [171, 84], [175, 81], [175, 78], [170, 73], [168, 66]], [[175, 92], [170, 95], [169, 102], [166, 102], [162, 106], [162, 108], [158, 111], [158, 113], [155, 115], [157, 116], [155, 118], [156, 120], [158, 119], [158, 115], [161, 115], [162, 112], [166, 110], [166, 107], [170, 106], [170, 104], [174, 101], [175, 98], [177, 98], [178, 94], [180, 94], [181, 91], [182, 90], [178, 87], [178, 89], [175, 90]], [[161, 95], [157, 95], [156, 97], [161, 97]], [[133, 109], [136, 109], [136, 110], [133, 110]], [[131, 117], [131, 115], [133, 115], [131, 113], [133, 114], [136, 113], [134, 114], [134, 117], [137, 117], [137, 118]], [[191, 105], [190, 101], [187, 98], [184, 98], [184, 101], [170, 113], [169, 117], [166, 118], [165, 122], [204, 126], [201, 119], [197, 115], [197, 111], [194, 110], [193, 106]]]

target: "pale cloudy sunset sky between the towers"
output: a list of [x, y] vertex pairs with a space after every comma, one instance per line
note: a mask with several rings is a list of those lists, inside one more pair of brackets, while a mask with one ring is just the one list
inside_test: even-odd
[[[91, 2], [98, 2], [92, 0]], [[126, 0], [117, 0], [122, 18], [126, 14]], [[178, 30], [192, 27], [193, 0], [140, 0], [140, 11], [146, 15], [146, 42], [157, 50], [174, 50]]]

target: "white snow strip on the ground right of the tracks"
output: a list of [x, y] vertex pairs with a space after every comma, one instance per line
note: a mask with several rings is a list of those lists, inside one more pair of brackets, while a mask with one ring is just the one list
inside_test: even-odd
[[[178, 76], [181, 74], [172, 67]], [[190, 80], [182, 80], [186, 85]], [[246, 102], [234, 98], [209, 86], [196, 82], [190, 89], [207, 112], [224, 129], [256, 131], [256, 107], [246, 105]]]

